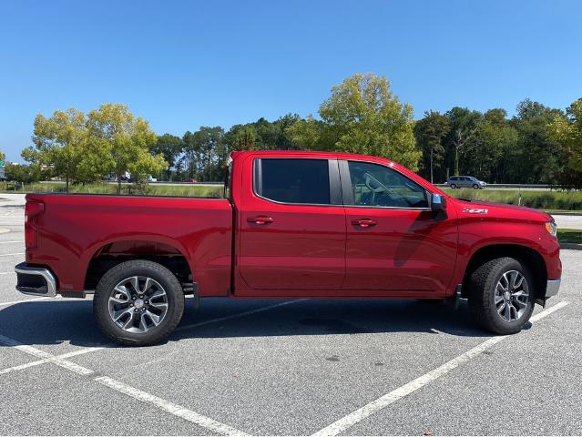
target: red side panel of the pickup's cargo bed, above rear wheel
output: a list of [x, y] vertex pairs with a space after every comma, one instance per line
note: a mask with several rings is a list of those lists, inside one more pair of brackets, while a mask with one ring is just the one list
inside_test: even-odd
[[206, 295], [230, 290], [232, 208], [223, 198], [170, 198], [29, 194], [45, 204], [36, 218], [36, 248], [26, 262], [45, 266], [57, 289], [71, 294], [92, 288], [87, 268], [97, 257], [138, 250], [144, 258], [182, 259]]

